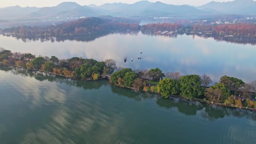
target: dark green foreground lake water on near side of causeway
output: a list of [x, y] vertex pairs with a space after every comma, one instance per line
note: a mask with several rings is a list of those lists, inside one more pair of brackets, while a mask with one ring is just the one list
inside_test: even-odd
[[256, 113], [0, 66], [1, 144], [255, 144]]

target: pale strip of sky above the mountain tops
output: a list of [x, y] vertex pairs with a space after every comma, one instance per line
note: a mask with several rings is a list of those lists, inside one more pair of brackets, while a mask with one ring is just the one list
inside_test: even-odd
[[[56, 6], [64, 1], [74, 1], [80, 5], [89, 5], [89, 4], [101, 5], [104, 3], [115, 3], [115, 2], [132, 4], [140, 0], [0, 0], [0, 7], [16, 6], [16, 5], [19, 5], [21, 7], [26, 7], [26, 6], [46, 7], [46, 6]], [[189, 4], [193, 6], [201, 6], [212, 0], [148, 0], [148, 1], [151, 1], [151, 2], [161, 1], [163, 3], [176, 4], [176, 5]], [[214, 1], [223, 2], [223, 1], [232, 1], [232, 0], [214, 0]]]

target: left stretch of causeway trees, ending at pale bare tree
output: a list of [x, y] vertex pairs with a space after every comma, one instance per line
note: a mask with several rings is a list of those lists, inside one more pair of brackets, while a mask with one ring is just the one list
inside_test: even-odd
[[113, 73], [116, 63], [112, 59], [96, 61], [94, 59], [70, 58], [58, 59], [56, 56], [38, 56], [31, 53], [12, 53], [0, 49], [0, 62], [3, 65], [15, 65], [28, 70], [40, 70], [79, 80], [98, 80], [105, 74]]

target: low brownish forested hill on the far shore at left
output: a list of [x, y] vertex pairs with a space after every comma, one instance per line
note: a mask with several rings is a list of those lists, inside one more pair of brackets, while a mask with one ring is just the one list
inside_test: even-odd
[[82, 35], [97, 34], [110, 30], [138, 30], [138, 21], [126, 18], [82, 18], [69, 21], [64, 24], [51, 25], [45, 27], [12, 27], [6, 28], [1, 33], [10, 33], [18, 36], [63, 36], [63, 35]]

